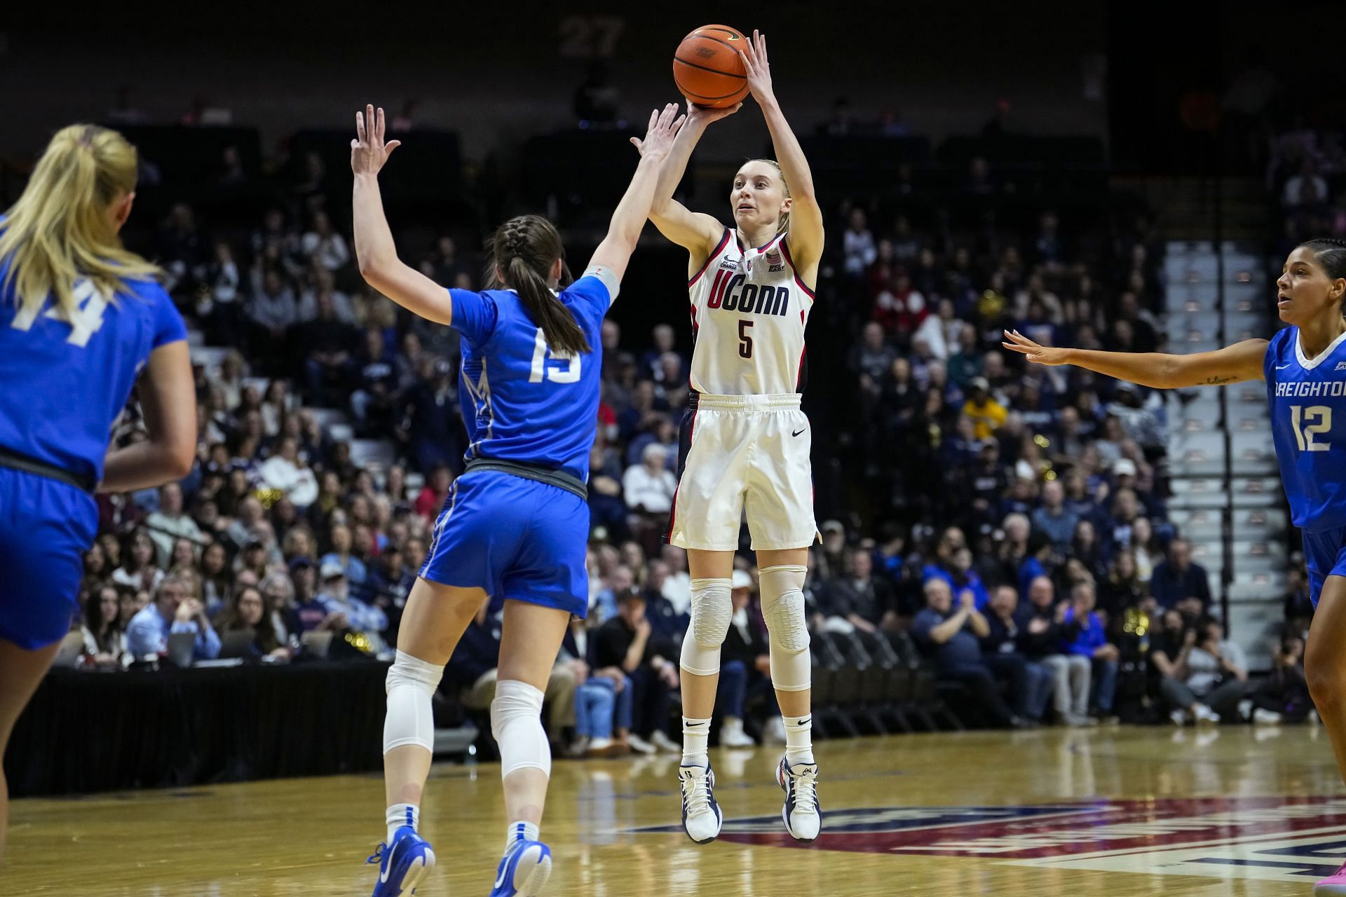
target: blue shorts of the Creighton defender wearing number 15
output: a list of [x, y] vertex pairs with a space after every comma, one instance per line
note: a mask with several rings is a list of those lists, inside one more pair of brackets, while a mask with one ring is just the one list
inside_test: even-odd
[[588, 503], [573, 492], [502, 471], [472, 471], [454, 481], [420, 574], [583, 617], [588, 530]]

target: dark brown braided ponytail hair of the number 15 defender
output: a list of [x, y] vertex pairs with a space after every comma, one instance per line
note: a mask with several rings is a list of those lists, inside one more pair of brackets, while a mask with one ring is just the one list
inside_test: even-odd
[[557, 258], [561, 260], [561, 285], [573, 280], [564, 256], [561, 235], [552, 222], [541, 215], [510, 218], [491, 239], [486, 286], [516, 290], [533, 321], [542, 328], [552, 352], [573, 358], [594, 350], [575, 316], [546, 285], [546, 276]]

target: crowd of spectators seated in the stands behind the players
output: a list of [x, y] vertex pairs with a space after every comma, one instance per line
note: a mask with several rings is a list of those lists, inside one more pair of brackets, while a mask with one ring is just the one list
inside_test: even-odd
[[[152, 666], [178, 656], [174, 643], [182, 659], [265, 663], [396, 644], [462, 469], [458, 340], [363, 285], [326, 202], [316, 182], [296, 184], [256, 227], [217, 233], [176, 204], [153, 235], [148, 254], [188, 321], [229, 351], [195, 367], [192, 473], [100, 499], [82, 666]], [[1050, 208], [988, 237], [837, 203], [817, 292], [849, 334], [836, 363], [860, 425], [839, 451], [855, 461], [845, 488], [859, 511], [822, 520], [810, 550], [818, 662], [918, 659], [957, 683], [969, 718], [1004, 726], [1298, 714], [1271, 686], [1245, 686], [1207, 572], [1167, 523], [1159, 397], [1000, 351], [1004, 328], [1159, 347], [1156, 243], [1143, 226], [1121, 230], [1086, 249]], [[421, 249], [406, 254], [436, 281], [479, 285], [481, 260], [451, 238]], [[688, 358], [668, 324], [643, 347], [631, 336], [603, 324], [590, 616], [548, 687], [551, 734], [573, 754], [676, 748], [690, 581], [661, 534]], [[324, 425], [334, 418], [349, 433]], [[133, 425], [118, 438], [136, 438]], [[357, 463], [366, 438], [393, 460]], [[781, 740], [751, 554], [735, 566], [720, 740]], [[471, 711], [494, 691], [498, 613], [482, 608], [446, 676]], [[1277, 655], [1287, 668], [1296, 650], [1287, 639]]]

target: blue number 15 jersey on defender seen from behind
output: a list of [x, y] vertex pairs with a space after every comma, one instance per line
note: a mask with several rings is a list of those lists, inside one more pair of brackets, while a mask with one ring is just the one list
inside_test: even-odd
[[584, 331], [592, 352], [555, 356], [518, 293], [452, 289], [452, 327], [463, 335], [462, 397], [467, 459], [556, 468], [588, 481], [598, 429], [603, 316], [616, 278], [596, 269], [559, 299]]

